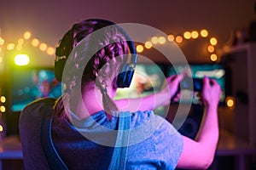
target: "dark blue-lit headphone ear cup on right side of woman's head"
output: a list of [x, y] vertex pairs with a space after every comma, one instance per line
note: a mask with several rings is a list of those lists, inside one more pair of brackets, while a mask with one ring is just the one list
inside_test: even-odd
[[131, 65], [124, 64], [119, 73], [117, 85], [118, 88], [129, 88], [134, 74], [134, 68]]

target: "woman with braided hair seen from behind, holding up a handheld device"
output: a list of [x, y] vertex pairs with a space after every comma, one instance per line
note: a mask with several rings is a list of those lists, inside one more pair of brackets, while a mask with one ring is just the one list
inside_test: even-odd
[[[113, 164], [117, 160], [124, 169], [206, 169], [211, 165], [218, 143], [220, 88], [207, 77], [202, 90], [205, 117], [196, 140], [186, 138], [172, 124], [147, 111], [166, 105], [174, 97], [183, 78], [178, 75], [168, 77], [166, 88], [143, 98], [142, 105], [136, 106], [137, 99], [129, 100], [125, 111], [129, 111], [130, 122], [122, 128], [128, 129], [129, 135], [120, 133], [126, 138], [122, 143], [121, 131], [117, 130], [123, 121], [120, 108], [127, 100], [113, 101], [113, 97], [122, 87], [119, 74], [132, 58], [131, 53], [135, 53], [134, 48], [125, 31], [108, 20], [83, 20], [67, 32], [56, 49], [55, 61], [56, 75], [66, 84], [64, 94], [57, 100], [39, 99], [20, 115], [27, 169], [49, 169], [40, 136], [42, 119], [49, 113], [53, 117], [51, 137], [55, 150], [69, 169], [116, 169]], [[120, 148], [125, 152], [116, 155]]]

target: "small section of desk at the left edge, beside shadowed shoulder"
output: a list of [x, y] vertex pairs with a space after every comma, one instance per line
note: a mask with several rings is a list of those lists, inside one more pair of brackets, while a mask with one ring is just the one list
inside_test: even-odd
[[22, 150], [19, 136], [11, 136], [0, 142], [0, 170], [3, 160], [22, 160]]

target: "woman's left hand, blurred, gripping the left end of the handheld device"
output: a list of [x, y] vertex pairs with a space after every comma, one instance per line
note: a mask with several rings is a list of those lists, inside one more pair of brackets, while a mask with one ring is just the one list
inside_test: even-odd
[[[166, 101], [167, 104], [169, 104], [172, 97], [174, 97], [174, 95], [177, 94], [177, 90], [178, 90], [178, 87], [179, 87], [179, 82], [182, 81], [182, 80], [183, 80], [183, 74], [172, 75], [171, 77], [166, 78], [167, 85], [165, 84], [165, 87], [162, 88], [160, 93], [169, 94], [168, 99]], [[175, 97], [178, 99], [179, 95], [177, 94], [177, 96], [175, 96]]]

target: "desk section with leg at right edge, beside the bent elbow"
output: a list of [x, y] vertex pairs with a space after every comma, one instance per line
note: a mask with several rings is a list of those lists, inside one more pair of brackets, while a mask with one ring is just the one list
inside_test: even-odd
[[246, 141], [237, 139], [232, 133], [220, 130], [216, 156], [236, 156], [238, 158], [236, 168], [246, 170], [247, 156], [256, 156], [255, 147], [250, 146]]

